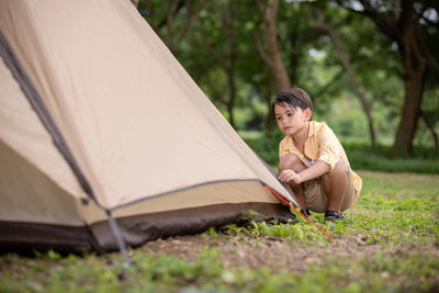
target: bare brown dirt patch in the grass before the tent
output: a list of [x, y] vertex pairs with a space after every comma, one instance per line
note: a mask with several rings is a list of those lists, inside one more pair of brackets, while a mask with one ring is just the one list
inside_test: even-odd
[[154, 255], [171, 255], [187, 261], [193, 261], [204, 248], [217, 248], [227, 269], [249, 267], [251, 269], [267, 268], [271, 272], [303, 271], [308, 264], [323, 264], [331, 258], [349, 257], [362, 258], [381, 251], [385, 255], [401, 256], [423, 252], [439, 257], [439, 249], [435, 246], [384, 247], [379, 244], [365, 245], [365, 237], [344, 237], [326, 247], [296, 246], [291, 240], [280, 237], [261, 236], [247, 237], [218, 237], [212, 238], [206, 234], [199, 236], [182, 236], [169, 239], [159, 239], [146, 244], [140, 249]]

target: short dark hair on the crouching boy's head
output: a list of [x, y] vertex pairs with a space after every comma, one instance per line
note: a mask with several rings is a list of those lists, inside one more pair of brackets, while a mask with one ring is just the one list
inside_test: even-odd
[[[274, 106], [277, 104], [289, 105], [294, 110], [297, 108], [302, 110], [309, 108], [309, 110], [313, 112], [313, 102], [311, 101], [309, 94], [300, 88], [292, 88], [278, 93], [271, 103], [271, 112], [273, 114]], [[311, 115], [309, 120], [313, 120], [313, 115]]]

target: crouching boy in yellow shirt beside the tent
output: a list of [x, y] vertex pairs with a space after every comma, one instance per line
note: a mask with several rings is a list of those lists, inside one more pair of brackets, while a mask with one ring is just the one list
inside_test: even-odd
[[361, 178], [350, 169], [340, 142], [326, 123], [312, 121], [313, 103], [302, 89], [280, 92], [272, 102], [279, 128], [279, 179], [293, 190], [305, 214], [325, 213], [344, 219], [361, 190]]

